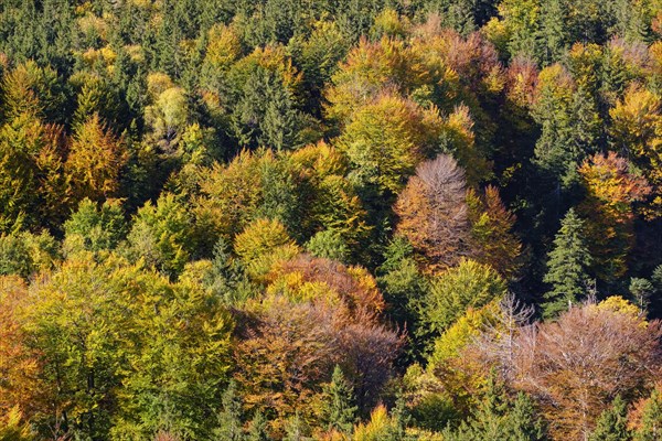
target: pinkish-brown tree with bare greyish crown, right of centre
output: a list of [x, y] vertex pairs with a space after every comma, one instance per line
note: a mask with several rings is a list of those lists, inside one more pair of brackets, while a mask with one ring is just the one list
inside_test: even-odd
[[419, 254], [424, 269], [434, 272], [470, 255], [465, 173], [441, 154], [417, 168], [394, 206], [397, 230]]

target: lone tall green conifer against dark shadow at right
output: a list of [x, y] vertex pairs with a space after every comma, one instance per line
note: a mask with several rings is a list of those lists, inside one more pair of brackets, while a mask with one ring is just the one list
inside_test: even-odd
[[546, 283], [552, 290], [545, 293], [544, 315], [555, 316], [568, 306], [568, 302], [577, 302], [586, 292], [589, 282], [587, 269], [591, 263], [586, 239], [584, 222], [570, 208], [560, 223], [560, 229], [554, 239], [554, 249], [549, 252]]

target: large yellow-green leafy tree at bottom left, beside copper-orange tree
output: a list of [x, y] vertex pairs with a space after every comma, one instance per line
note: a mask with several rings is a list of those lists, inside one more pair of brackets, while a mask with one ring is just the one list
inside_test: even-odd
[[118, 324], [121, 388], [111, 439], [146, 439], [169, 431], [182, 439], [211, 439], [223, 386], [229, 379], [234, 320], [214, 293], [192, 280], [140, 266], [108, 278]]

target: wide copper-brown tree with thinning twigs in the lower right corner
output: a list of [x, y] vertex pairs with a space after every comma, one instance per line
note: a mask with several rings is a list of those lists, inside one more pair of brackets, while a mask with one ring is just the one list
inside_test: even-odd
[[660, 335], [620, 298], [573, 308], [517, 332], [513, 386], [537, 397], [553, 437], [588, 438], [611, 400], [656, 378]]

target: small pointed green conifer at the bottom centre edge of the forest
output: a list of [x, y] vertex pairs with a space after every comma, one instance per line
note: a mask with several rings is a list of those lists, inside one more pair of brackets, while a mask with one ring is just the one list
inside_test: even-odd
[[331, 383], [324, 387], [325, 402], [322, 422], [329, 431], [337, 430], [350, 434], [356, 422], [356, 407], [353, 406], [353, 388], [348, 383], [340, 366], [335, 366]]

